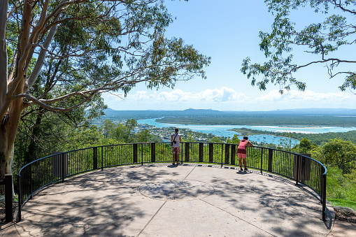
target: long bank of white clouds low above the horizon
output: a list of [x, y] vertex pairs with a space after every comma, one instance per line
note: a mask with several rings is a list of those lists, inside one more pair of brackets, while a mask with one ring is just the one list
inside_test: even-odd
[[256, 95], [236, 92], [229, 87], [204, 89], [201, 92], [140, 90], [127, 97], [104, 94], [109, 108], [117, 110], [212, 108], [215, 110], [275, 110], [285, 108], [356, 108], [356, 96], [350, 92], [320, 93], [291, 90], [280, 94], [278, 89], [257, 91]]

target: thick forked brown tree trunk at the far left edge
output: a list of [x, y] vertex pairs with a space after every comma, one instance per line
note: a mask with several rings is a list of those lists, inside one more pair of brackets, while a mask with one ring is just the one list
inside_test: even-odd
[[[18, 49], [18, 60], [15, 71], [15, 78], [17, 78], [16, 85], [13, 89], [8, 90], [8, 76], [7, 76], [7, 52], [6, 39], [3, 31], [6, 31], [7, 21], [7, 7], [4, 6], [4, 1], [1, 1], [0, 10], [0, 178], [6, 174], [12, 173], [13, 164], [13, 148], [17, 129], [20, 123], [20, 116], [22, 112], [23, 99], [15, 99], [11, 101], [11, 96], [15, 94], [22, 94], [24, 91], [24, 79], [26, 78], [26, 50], [25, 47], [29, 40], [29, 27], [31, 20], [31, 6], [29, 3], [24, 4], [24, 17], [22, 19], [22, 31], [20, 34], [20, 44]], [[6, 1], [7, 2], [7, 1]], [[6, 8], [5, 8], [6, 7]], [[5, 11], [3, 10], [5, 8]], [[4, 66], [5, 65], [5, 66]], [[6, 85], [6, 86], [4, 86]], [[12, 90], [12, 91], [11, 91]], [[11, 94], [9, 94], [11, 92]]]

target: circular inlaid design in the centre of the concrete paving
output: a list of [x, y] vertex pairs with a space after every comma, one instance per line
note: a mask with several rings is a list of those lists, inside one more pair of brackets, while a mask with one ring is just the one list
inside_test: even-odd
[[209, 196], [214, 189], [211, 185], [196, 180], [164, 180], [147, 183], [140, 187], [140, 192], [151, 199], [187, 201]]

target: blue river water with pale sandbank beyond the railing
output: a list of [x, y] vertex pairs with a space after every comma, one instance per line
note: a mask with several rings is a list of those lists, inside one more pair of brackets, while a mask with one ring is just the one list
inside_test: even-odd
[[[232, 138], [234, 134], [240, 135], [235, 131], [229, 131], [228, 129], [241, 129], [243, 127], [247, 129], [255, 129], [261, 131], [278, 131], [278, 132], [297, 132], [303, 134], [322, 134], [327, 132], [346, 132], [351, 130], [356, 130], [356, 127], [278, 127], [278, 126], [248, 126], [248, 125], [197, 125], [197, 124], [164, 124], [160, 122], [155, 122], [157, 118], [152, 118], [148, 120], [137, 120], [138, 124], [149, 124], [155, 127], [178, 127], [185, 129], [192, 129], [193, 131], [199, 131], [205, 134], [214, 134], [215, 136], [225, 136]], [[173, 131], [173, 129], [172, 129]], [[242, 139], [242, 136], [238, 136]], [[273, 143], [279, 145], [283, 141], [282, 137], [272, 136], [272, 135], [250, 135], [248, 140], [251, 142], [264, 142]], [[292, 145], [299, 144], [298, 140], [292, 139]]]

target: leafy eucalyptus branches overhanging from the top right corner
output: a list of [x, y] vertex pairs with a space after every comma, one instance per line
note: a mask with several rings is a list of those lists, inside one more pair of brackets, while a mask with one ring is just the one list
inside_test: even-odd
[[[252, 80], [252, 85], [264, 90], [269, 83], [279, 84], [280, 93], [295, 85], [304, 91], [306, 83], [297, 79], [295, 73], [306, 67], [323, 64], [330, 78], [345, 76], [343, 84], [339, 86], [341, 90], [356, 89], [356, 73], [353, 69], [355, 59], [337, 53], [341, 49], [352, 50], [355, 45], [356, 1], [265, 0], [265, 3], [274, 15], [271, 32], [259, 32], [259, 48], [268, 61], [263, 64], [252, 63], [250, 57], [247, 57], [241, 68]], [[322, 14], [324, 20], [297, 27], [299, 22], [292, 22], [294, 11], [301, 15], [306, 8]], [[304, 14], [303, 20], [308, 20], [308, 17], [309, 12]], [[304, 53], [298, 63], [293, 63], [293, 50]], [[341, 69], [341, 64], [345, 64], [348, 70]]]

